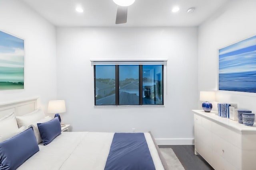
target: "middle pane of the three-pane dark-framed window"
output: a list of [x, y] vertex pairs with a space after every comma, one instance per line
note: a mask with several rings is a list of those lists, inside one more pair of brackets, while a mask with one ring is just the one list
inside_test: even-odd
[[139, 105], [139, 66], [119, 66], [119, 105]]

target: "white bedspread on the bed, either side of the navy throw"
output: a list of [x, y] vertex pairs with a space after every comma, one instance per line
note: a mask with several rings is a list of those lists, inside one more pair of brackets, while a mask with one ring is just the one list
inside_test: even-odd
[[[144, 133], [156, 170], [164, 170], [149, 133]], [[104, 170], [114, 133], [62, 132], [17, 170]]]

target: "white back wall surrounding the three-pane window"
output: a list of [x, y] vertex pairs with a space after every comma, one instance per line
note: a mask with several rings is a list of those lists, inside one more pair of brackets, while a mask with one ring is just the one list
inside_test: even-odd
[[[192, 144], [198, 106], [196, 27], [57, 28], [57, 96], [72, 131], [152, 131], [159, 144]], [[166, 57], [164, 107], [94, 107], [90, 58]]]

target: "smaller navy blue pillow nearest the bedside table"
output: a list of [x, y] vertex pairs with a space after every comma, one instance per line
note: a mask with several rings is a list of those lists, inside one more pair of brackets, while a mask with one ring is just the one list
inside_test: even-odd
[[51, 143], [51, 141], [61, 133], [58, 117], [45, 123], [37, 123], [37, 126], [44, 145]]

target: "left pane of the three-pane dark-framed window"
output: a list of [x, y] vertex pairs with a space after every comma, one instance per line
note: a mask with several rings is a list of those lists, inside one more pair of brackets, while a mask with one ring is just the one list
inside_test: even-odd
[[95, 105], [116, 105], [116, 66], [95, 66]]

